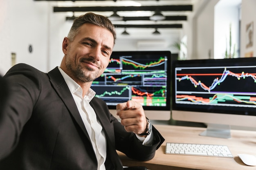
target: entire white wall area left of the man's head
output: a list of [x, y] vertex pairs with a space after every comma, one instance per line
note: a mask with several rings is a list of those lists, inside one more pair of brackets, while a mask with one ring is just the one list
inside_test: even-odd
[[[63, 57], [62, 41], [72, 22], [65, 13], [53, 13], [57, 2], [0, 0], [0, 74], [16, 63], [26, 63], [48, 72], [59, 66]], [[29, 52], [29, 46], [32, 52]]]

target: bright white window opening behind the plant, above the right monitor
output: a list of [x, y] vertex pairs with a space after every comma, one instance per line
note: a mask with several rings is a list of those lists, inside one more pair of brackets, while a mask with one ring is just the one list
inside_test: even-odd
[[214, 10], [214, 58], [225, 57], [227, 48], [229, 54], [229, 29], [231, 24], [231, 54], [238, 57], [239, 49], [239, 4], [241, 0], [220, 0]]

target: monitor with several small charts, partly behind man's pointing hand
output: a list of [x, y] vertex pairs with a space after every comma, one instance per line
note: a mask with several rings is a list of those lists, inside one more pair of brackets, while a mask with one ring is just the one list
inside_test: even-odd
[[171, 119], [171, 52], [113, 51], [105, 72], [92, 83], [116, 116], [116, 105], [139, 102], [148, 119]]

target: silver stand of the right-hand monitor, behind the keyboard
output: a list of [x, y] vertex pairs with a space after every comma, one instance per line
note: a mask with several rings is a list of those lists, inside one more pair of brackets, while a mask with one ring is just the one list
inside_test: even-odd
[[207, 124], [207, 129], [199, 135], [228, 139], [231, 138], [230, 125]]

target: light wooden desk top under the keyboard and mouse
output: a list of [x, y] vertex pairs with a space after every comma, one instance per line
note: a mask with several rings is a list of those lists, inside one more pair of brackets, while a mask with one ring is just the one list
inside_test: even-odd
[[[198, 134], [205, 128], [154, 125], [165, 138], [150, 161], [134, 161], [118, 152], [124, 166], [146, 166], [149, 170], [256, 170], [256, 166], [247, 166], [238, 154], [246, 153], [256, 156], [256, 132], [231, 130], [230, 139], [204, 137]], [[234, 158], [205, 157], [190, 155], [165, 154], [166, 142], [191, 144], [220, 144], [227, 145]]]

